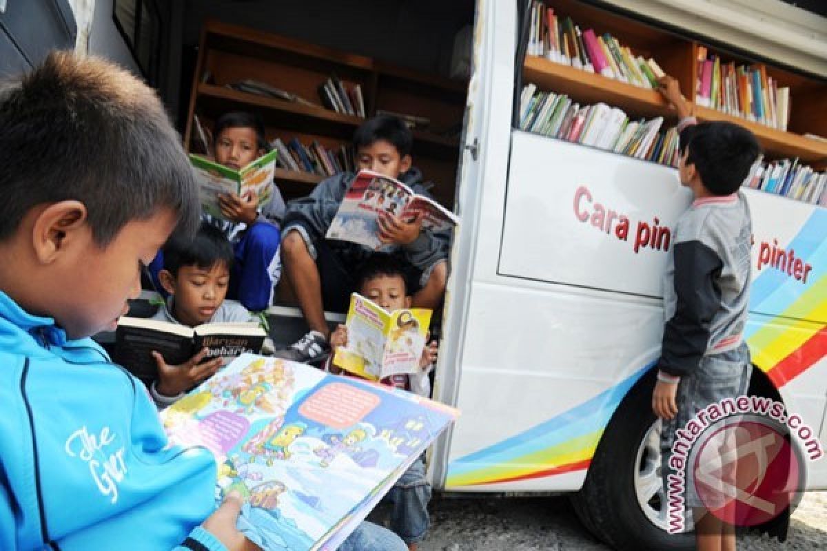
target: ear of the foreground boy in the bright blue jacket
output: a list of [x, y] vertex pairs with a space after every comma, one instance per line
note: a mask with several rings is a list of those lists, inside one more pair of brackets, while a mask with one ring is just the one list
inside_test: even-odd
[[92, 232], [86, 227], [86, 217], [86, 206], [79, 201], [52, 203], [36, 215], [31, 237], [41, 264], [51, 264], [71, 245], [87, 245]]

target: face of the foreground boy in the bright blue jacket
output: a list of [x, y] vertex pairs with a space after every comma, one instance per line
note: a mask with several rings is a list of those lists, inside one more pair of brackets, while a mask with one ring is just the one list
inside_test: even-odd
[[62, 302], [50, 306], [47, 315], [63, 327], [69, 339], [114, 330], [117, 318], [128, 311], [127, 299], [141, 294], [141, 266], [150, 264], [170, 236], [178, 216], [165, 209], [133, 220], [101, 249], [84, 228], [85, 245], [74, 246], [74, 258], [62, 261], [68, 275]]

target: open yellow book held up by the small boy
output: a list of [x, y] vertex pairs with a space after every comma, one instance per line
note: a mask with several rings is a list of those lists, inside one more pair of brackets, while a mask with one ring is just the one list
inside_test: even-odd
[[347, 348], [336, 351], [333, 363], [371, 381], [416, 373], [430, 323], [430, 310], [410, 308], [389, 312], [354, 292], [345, 321]]

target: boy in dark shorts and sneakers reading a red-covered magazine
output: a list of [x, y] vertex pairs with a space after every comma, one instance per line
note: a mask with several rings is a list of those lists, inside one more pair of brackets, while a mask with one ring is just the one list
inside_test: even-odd
[[[376, 116], [353, 135], [356, 168], [370, 169], [396, 178], [425, 193], [421, 173], [411, 168], [413, 137], [404, 122], [394, 116]], [[327, 351], [330, 330], [324, 311], [347, 311], [350, 290], [355, 288], [354, 268], [374, 251], [347, 241], [327, 240], [327, 229], [350, 187], [354, 175], [327, 178], [308, 197], [290, 202], [284, 216], [284, 271], [308, 323], [309, 332], [288, 349], [276, 354], [308, 362]], [[447, 278], [449, 235], [423, 230], [422, 220], [382, 216], [380, 238], [393, 245], [393, 254], [418, 281], [414, 306], [435, 309], [442, 300]]]

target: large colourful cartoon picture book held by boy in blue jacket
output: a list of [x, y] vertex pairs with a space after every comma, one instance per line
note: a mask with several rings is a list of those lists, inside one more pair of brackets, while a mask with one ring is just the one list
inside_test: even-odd
[[243, 354], [161, 411], [218, 462], [216, 500], [265, 551], [337, 549], [458, 411], [409, 392]]

